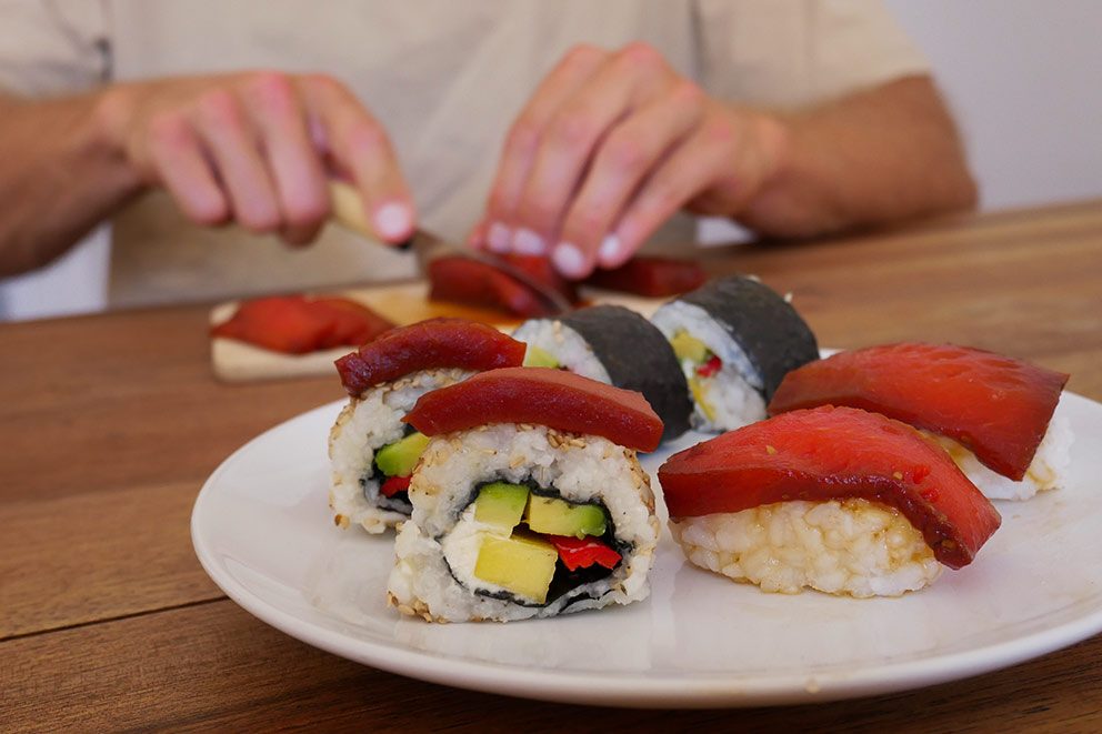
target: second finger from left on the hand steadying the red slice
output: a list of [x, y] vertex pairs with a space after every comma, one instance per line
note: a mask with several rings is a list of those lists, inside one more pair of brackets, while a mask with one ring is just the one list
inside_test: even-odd
[[[601, 140], [673, 80], [662, 57], [637, 43], [610, 58], [564, 100], [541, 135], [524, 182], [513, 219], [518, 232], [533, 232], [541, 242], [552, 242]], [[523, 239], [518, 238], [517, 244]]]

